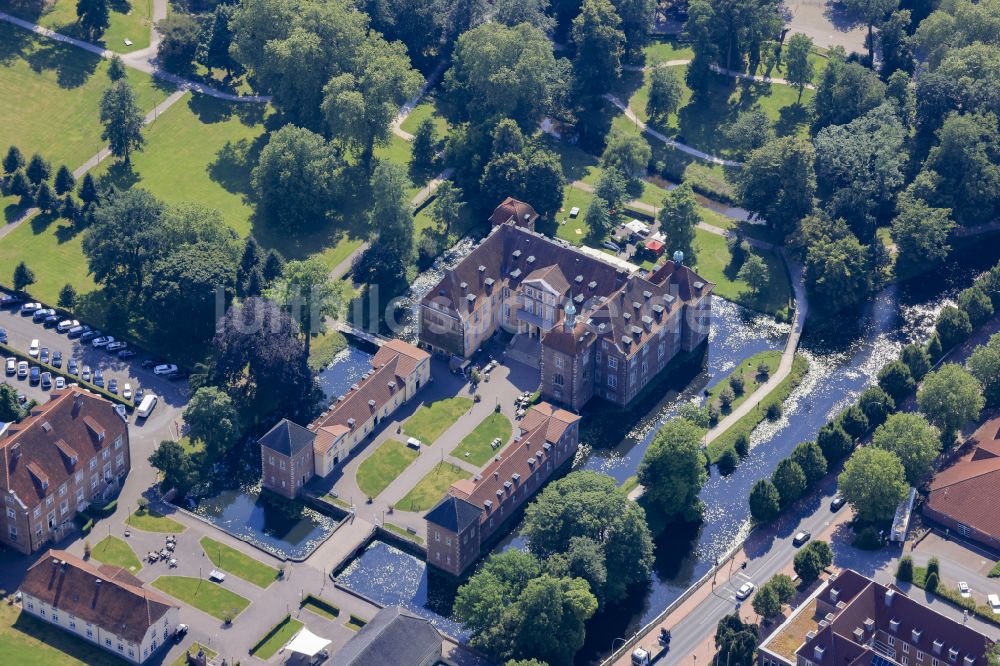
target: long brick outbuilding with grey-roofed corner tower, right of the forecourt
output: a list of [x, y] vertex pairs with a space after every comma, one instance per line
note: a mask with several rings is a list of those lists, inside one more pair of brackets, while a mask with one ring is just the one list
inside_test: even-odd
[[541, 402], [518, 423], [518, 434], [481, 474], [452, 484], [424, 517], [427, 562], [460, 576], [482, 547], [538, 492], [580, 442], [580, 417]]

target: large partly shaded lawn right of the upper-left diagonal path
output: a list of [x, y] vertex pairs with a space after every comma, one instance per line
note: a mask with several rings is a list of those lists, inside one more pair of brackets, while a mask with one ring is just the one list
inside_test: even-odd
[[265, 107], [187, 94], [146, 130], [132, 171], [108, 161], [94, 173], [149, 190], [167, 203], [218, 210], [241, 236], [250, 233], [250, 172], [267, 139]]

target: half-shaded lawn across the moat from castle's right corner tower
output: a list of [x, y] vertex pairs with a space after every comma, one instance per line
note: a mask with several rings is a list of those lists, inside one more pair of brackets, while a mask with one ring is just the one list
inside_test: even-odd
[[695, 229], [695, 251], [698, 274], [715, 283], [716, 295], [768, 314], [783, 317], [788, 314], [791, 287], [781, 257], [773, 252], [754, 250], [767, 263], [770, 284], [761, 294], [753, 295], [746, 282], [736, 277], [739, 267], [734, 265], [724, 237]]

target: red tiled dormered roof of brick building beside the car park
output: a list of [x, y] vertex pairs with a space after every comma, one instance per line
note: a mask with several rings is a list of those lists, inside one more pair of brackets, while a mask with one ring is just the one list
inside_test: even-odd
[[[97, 433], [104, 434], [103, 441]], [[13, 491], [27, 508], [34, 507], [86, 469], [119, 435], [127, 444], [125, 423], [109, 401], [87, 391], [58, 392], [0, 436], [0, 487]], [[78, 455], [76, 465], [67, 451]], [[42, 488], [43, 479], [48, 488]]]

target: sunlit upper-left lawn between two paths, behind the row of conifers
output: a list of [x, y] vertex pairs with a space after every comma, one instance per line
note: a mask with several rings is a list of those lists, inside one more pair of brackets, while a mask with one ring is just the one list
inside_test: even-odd
[[[53, 173], [83, 164], [104, 146], [99, 107], [108, 62], [5, 22], [0, 45], [0, 146], [17, 145], [26, 158], [41, 153]], [[147, 111], [172, 90], [133, 69], [128, 80]]]

